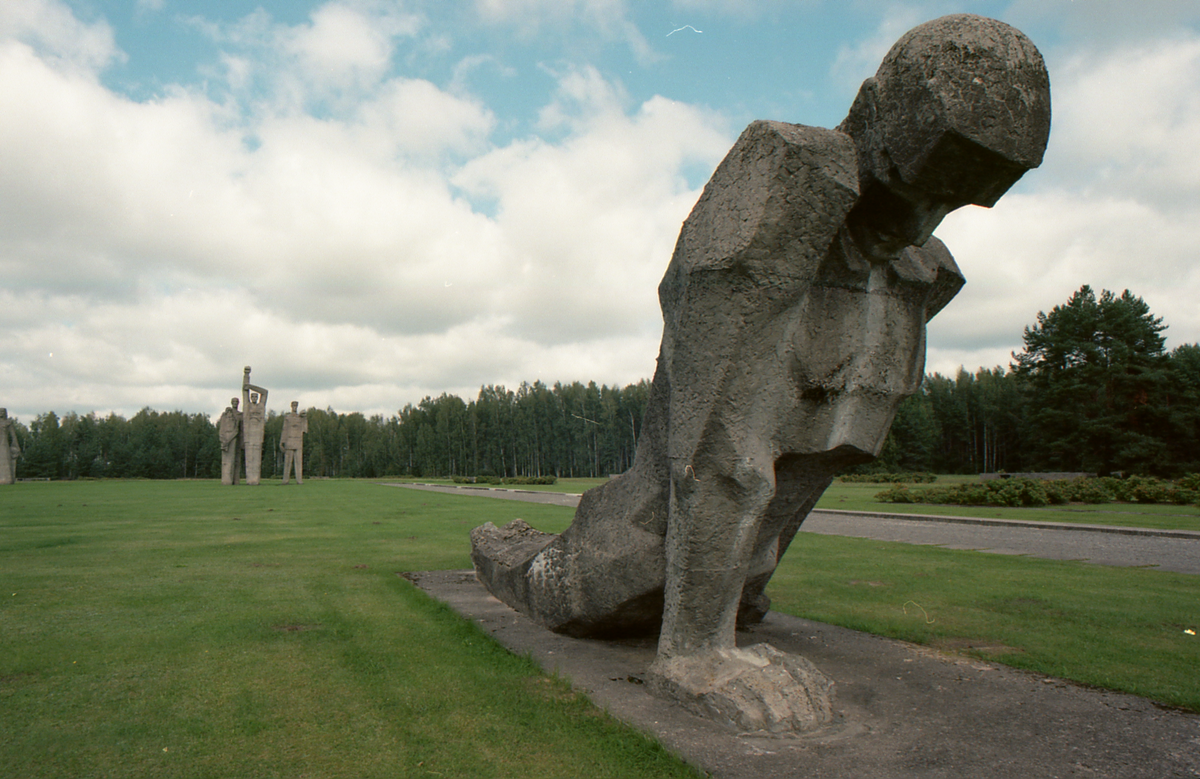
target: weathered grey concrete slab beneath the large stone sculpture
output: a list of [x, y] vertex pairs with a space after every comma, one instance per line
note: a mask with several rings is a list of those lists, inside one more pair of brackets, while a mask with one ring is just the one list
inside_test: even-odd
[[473, 571], [407, 574], [517, 654], [720, 779], [1200, 777], [1200, 717], [989, 663], [772, 613], [738, 645], [804, 655], [838, 685], [832, 726], [746, 737], [649, 695], [654, 641], [547, 631]]

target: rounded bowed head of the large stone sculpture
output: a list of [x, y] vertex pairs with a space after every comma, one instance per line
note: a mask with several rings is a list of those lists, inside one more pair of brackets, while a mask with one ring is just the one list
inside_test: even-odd
[[869, 257], [892, 259], [923, 245], [954, 209], [994, 205], [1042, 163], [1050, 77], [1019, 30], [942, 17], [892, 47], [839, 130], [859, 155], [851, 233]]

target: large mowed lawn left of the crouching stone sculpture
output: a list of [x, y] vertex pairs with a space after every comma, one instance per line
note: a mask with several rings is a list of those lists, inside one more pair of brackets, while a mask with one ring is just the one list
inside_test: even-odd
[[697, 775], [397, 575], [570, 515], [361, 481], [4, 487], [0, 775]]

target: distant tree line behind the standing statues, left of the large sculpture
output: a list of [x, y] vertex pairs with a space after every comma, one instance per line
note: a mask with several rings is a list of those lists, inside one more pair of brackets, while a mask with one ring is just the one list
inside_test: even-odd
[[[600, 477], [634, 461], [649, 395], [624, 388], [541, 382], [480, 389], [473, 401], [425, 397], [397, 414], [307, 411], [306, 477]], [[264, 479], [282, 475], [283, 415], [268, 413]], [[14, 421], [18, 479], [218, 479], [217, 430], [205, 414], [143, 408], [130, 419], [74, 412]]]

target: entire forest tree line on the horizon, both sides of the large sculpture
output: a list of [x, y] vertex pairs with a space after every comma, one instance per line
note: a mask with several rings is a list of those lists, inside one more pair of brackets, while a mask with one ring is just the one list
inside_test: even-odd
[[[872, 471], [1200, 472], [1200, 346], [1165, 350], [1140, 298], [1080, 288], [1025, 329], [1009, 367], [932, 373], [900, 405]], [[310, 408], [307, 477], [602, 477], [632, 465], [649, 395], [522, 383], [463, 401], [425, 397], [397, 414]], [[263, 477], [278, 477], [282, 415], [266, 421]], [[18, 478], [214, 479], [221, 451], [204, 414], [55, 413], [16, 423]]]

